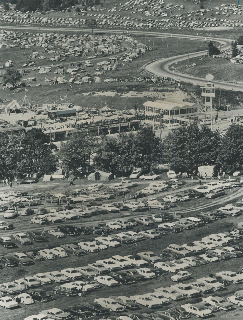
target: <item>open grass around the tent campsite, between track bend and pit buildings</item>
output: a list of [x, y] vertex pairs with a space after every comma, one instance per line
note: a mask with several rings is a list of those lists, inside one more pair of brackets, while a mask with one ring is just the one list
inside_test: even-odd
[[[137, 35], [139, 37], [139, 41], [146, 44], [150, 44], [151, 46], [154, 45], [154, 47], [158, 47], [158, 50], [146, 52], [141, 57], [133, 60], [131, 63], [126, 63], [124, 66], [120, 66], [118, 70], [116, 71], [107, 71], [104, 74], [105, 78], [130, 78], [132, 79], [134, 76], [146, 76], [148, 75], [147, 72], [144, 71], [143, 66], [155, 59], [159, 58], [166, 58], [172, 55], [176, 54], [182, 54], [188, 51], [188, 48], [190, 48], [191, 51], [199, 51], [200, 49], [203, 50], [207, 48], [207, 41], [199, 42], [195, 40], [184, 40], [178, 41], [174, 38], [157, 38], [157, 37], [141, 37], [139, 34]], [[136, 37], [135, 37], [136, 39]], [[169, 45], [167, 47], [166, 45]], [[2, 57], [11, 57], [11, 59], [18, 61], [16, 67], [20, 69], [24, 69], [22, 67], [22, 64], [26, 62], [27, 56], [24, 56], [23, 53], [26, 52], [27, 55], [31, 53], [31, 49], [26, 50], [19, 50], [19, 49], [3, 49], [1, 50], [1, 56]], [[47, 54], [44, 54], [40, 51], [40, 55], [47, 56]], [[97, 58], [92, 60], [93, 64], [96, 64], [98, 61], [106, 60], [107, 58]], [[76, 61], [81, 61], [84, 64], [85, 58], [76, 58]], [[36, 66], [43, 66], [43, 65], [51, 65], [52, 62], [48, 60], [35, 60]], [[63, 65], [69, 66], [69, 62], [74, 62], [74, 57], [67, 58], [66, 61], [63, 62]], [[15, 67], [15, 66], [14, 66]], [[32, 68], [32, 67], [31, 67]], [[30, 69], [31, 69], [30, 68]], [[92, 70], [91, 70], [92, 69]], [[109, 103], [112, 103], [114, 105], [114, 108], [124, 108], [124, 106], [128, 106], [129, 108], [134, 107], [134, 103], [137, 104], [143, 104], [147, 98], [141, 97], [141, 98], [130, 98], [130, 97], [123, 97], [120, 99], [117, 99], [113, 94], [111, 93], [110, 97], [101, 97], [102, 94], [99, 96], [94, 96], [93, 94], [90, 94], [88, 96], [83, 96], [83, 93], [91, 92], [118, 92], [118, 93], [128, 93], [129, 91], [133, 92], [148, 92], [148, 91], [156, 91], [159, 90], [160, 92], [167, 91], [168, 86], [165, 88], [157, 87], [155, 84], [149, 84], [149, 83], [139, 83], [136, 82], [136, 84], [132, 82], [111, 82], [111, 83], [101, 83], [101, 84], [73, 84], [73, 90], [67, 91], [67, 89], [70, 88], [70, 84], [61, 84], [61, 85], [52, 85], [50, 86], [49, 83], [44, 82], [44, 78], [52, 78], [55, 76], [53, 74], [54, 70], [45, 75], [38, 74], [38, 71], [31, 71], [31, 73], [23, 75], [23, 78], [27, 78], [29, 76], [34, 76], [37, 79], [37, 83], [41, 83], [42, 86], [36, 87], [35, 84], [31, 84], [31, 87], [28, 88], [27, 96], [29, 99], [35, 101], [36, 103], [42, 105], [43, 103], [51, 103], [54, 100], [59, 99], [60, 97], [64, 97], [67, 95], [66, 100], [70, 102], [74, 102], [77, 105], [80, 105], [82, 107], [87, 107], [87, 104], [89, 102], [90, 106], [93, 107], [99, 107], [101, 105], [100, 101], [107, 101]], [[86, 72], [92, 73], [93, 68], [86, 68]], [[85, 72], [81, 75], [85, 75]], [[69, 75], [67, 75], [67, 79], [69, 79]], [[0, 87], [1, 88], [1, 87]], [[171, 88], [169, 88], [171, 89]], [[0, 89], [1, 90], [1, 89]], [[174, 90], [174, 89], [173, 89]], [[25, 89], [21, 89], [20, 91], [11, 91], [9, 89], [3, 89], [1, 90], [1, 99], [7, 99], [12, 100], [16, 99], [19, 101], [24, 95], [26, 94]], [[108, 95], [109, 96], [109, 95]]]

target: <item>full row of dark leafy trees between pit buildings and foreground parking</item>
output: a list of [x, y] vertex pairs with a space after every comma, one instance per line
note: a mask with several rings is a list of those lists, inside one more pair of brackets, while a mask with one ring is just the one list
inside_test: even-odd
[[52, 173], [57, 165], [74, 175], [93, 169], [127, 176], [134, 168], [151, 170], [169, 164], [176, 172], [193, 172], [200, 165], [216, 165], [225, 172], [243, 164], [243, 126], [230, 125], [222, 137], [218, 130], [197, 124], [181, 126], [161, 140], [152, 127], [117, 138], [103, 136], [101, 141], [83, 133], [73, 134], [59, 149], [45, 143], [41, 129], [24, 133], [1, 133], [0, 176], [21, 176], [34, 172]]

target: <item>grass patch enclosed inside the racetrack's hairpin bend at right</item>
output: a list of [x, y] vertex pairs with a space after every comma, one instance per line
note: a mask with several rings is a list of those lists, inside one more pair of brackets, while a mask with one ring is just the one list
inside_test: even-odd
[[[195, 66], [191, 66], [195, 63]], [[215, 80], [227, 81], [227, 82], [243, 82], [242, 64], [234, 64], [226, 59], [214, 59], [203, 57], [189, 59], [190, 67], [186, 67], [188, 64], [187, 60], [179, 61], [177, 66], [173, 65], [176, 68], [176, 71], [186, 73], [192, 76], [197, 76], [200, 78], [205, 78], [209, 73], [214, 75]]]

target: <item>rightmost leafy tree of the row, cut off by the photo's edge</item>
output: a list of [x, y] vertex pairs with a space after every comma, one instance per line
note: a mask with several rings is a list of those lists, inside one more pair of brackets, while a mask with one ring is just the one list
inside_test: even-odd
[[239, 169], [243, 164], [243, 126], [233, 124], [222, 138], [218, 164], [226, 172]]

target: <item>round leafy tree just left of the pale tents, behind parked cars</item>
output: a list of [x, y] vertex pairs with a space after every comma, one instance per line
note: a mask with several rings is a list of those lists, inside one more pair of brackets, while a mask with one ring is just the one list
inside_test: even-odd
[[78, 133], [70, 137], [67, 142], [62, 142], [58, 151], [59, 159], [65, 172], [78, 174], [78, 169], [82, 172], [90, 172], [90, 156], [96, 148], [93, 137], [88, 137], [83, 133]]

